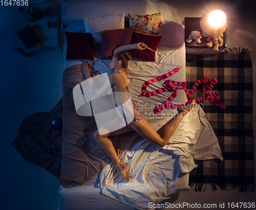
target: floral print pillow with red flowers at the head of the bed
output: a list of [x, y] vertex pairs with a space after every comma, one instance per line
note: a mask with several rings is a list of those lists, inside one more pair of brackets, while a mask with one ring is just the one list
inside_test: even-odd
[[128, 15], [130, 28], [134, 28], [134, 31], [151, 35], [161, 34], [162, 20], [160, 13], [152, 15]]

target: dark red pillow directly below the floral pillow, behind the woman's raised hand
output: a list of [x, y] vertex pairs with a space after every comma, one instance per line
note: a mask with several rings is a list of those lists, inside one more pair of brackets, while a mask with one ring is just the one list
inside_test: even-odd
[[[148, 48], [151, 48], [154, 51], [157, 51], [158, 44], [161, 40], [162, 36], [155, 36], [155, 35], [146, 35], [141, 33], [133, 32], [133, 40], [132, 44], [143, 42], [147, 44]], [[155, 52], [152, 50], [146, 49], [146, 50], [132, 50], [132, 57], [141, 59], [141, 60], [147, 60], [147, 61], [155, 61]]]

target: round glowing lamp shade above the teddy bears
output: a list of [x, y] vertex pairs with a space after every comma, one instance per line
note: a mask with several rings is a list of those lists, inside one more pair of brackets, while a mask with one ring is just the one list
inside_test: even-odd
[[205, 37], [222, 34], [227, 28], [225, 13], [221, 10], [206, 12], [200, 19], [200, 28]]

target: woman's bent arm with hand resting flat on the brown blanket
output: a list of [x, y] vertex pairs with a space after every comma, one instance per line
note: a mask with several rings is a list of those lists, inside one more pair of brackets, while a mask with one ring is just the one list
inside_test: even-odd
[[[86, 78], [88, 79], [88, 82], [90, 84], [91, 89], [93, 90], [95, 96], [99, 97], [100, 95], [104, 94], [104, 92], [108, 91], [113, 85], [115, 85], [117, 83], [117, 79], [116, 79], [116, 75], [112, 74], [109, 76], [109, 83], [107, 83], [107, 81], [100, 87], [98, 88], [91, 77], [91, 66], [88, 64], [88, 62], [83, 62], [82, 63], [82, 72], [83, 74], [86, 76]], [[110, 84], [111, 86], [109, 86], [108, 84]]]

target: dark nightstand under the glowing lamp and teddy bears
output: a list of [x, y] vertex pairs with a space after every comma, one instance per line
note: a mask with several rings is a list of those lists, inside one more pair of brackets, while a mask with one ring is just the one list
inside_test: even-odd
[[[185, 17], [185, 40], [188, 38], [191, 31], [199, 31], [200, 29], [200, 18], [201, 17]], [[202, 32], [201, 32], [202, 33]], [[219, 51], [214, 51], [211, 48], [208, 48], [206, 44], [208, 43], [207, 37], [202, 36], [201, 43], [197, 44], [196, 40], [192, 40], [190, 43], [185, 41], [186, 54], [219, 54], [227, 47], [227, 30], [223, 33], [223, 45], [219, 47]]]

